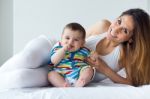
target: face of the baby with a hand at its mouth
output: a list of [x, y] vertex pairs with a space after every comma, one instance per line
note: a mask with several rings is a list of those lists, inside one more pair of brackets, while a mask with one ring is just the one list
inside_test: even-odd
[[61, 38], [62, 46], [67, 45], [70, 52], [77, 51], [83, 47], [85, 40], [83, 39], [82, 33], [79, 31], [73, 31], [69, 28], [64, 30]]

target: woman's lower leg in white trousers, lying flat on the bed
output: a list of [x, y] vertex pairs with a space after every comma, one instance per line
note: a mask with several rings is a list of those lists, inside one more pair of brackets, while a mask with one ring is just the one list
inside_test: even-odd
[[0, 89], [47, 86], [47, 74], [46, 67], [0, 72]]

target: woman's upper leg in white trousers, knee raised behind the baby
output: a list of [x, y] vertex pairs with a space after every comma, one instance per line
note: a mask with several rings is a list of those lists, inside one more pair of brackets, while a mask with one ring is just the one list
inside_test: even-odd
[[1, 69], [37, 68], [50, 60], [49, 51], [55, 39], [41, 35], [27, 43], [25, 48], [6, 61]]

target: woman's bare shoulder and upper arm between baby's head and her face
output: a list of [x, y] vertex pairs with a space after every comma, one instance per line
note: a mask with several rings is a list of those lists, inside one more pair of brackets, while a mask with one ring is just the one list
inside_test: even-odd
[[108, 20], [101, 20], [97, 23], [95, 23], [94, 25], [92, 25], [91, 27], [89, 27], [86, 31], [86, 38], [92, 36], [92, 35], [98, 35], [100, 33], [104, 33], [108, 30], [109, 26], [110, 26], [110, 21]]

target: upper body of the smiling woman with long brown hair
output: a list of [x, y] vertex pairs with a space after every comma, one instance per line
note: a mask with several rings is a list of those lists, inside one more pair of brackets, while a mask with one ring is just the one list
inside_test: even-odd
[[[107, 33], [101, 33], [100, 30], [103, 29], [96, 24], [87, 31], [90, 35], [87, 46], [100, 56], [96, 60], [87, 59], [99, 72], [96, 80], [104, 78], [102, 73], [116, 83], [134, 86], [150, 84], [149, 15], [142, 9], [129, 9], [111, 23]], [[121, 68], [125, 68], [126, 78], [116, 73]]]

